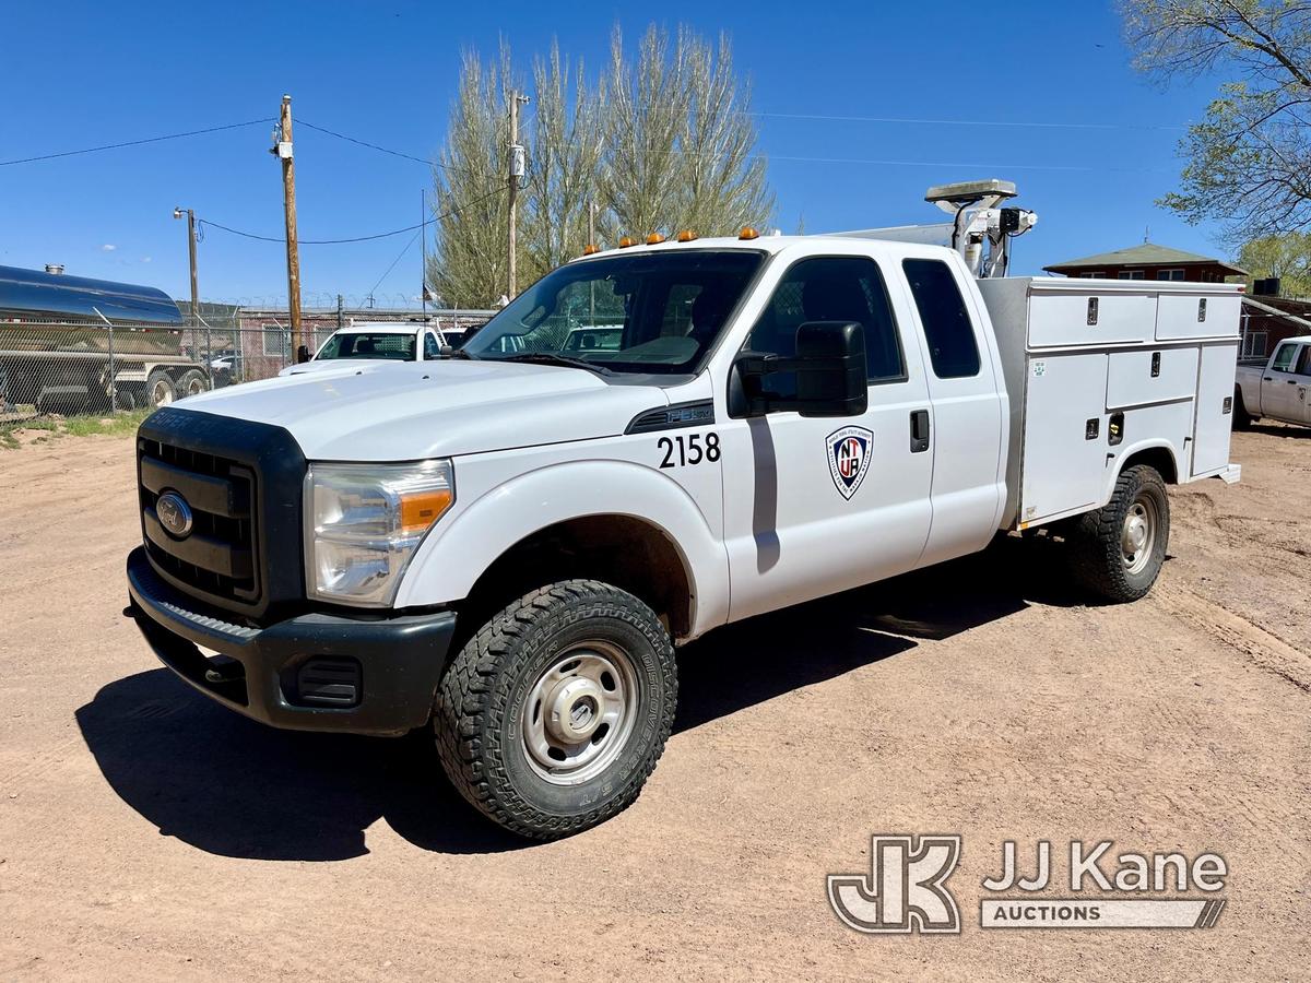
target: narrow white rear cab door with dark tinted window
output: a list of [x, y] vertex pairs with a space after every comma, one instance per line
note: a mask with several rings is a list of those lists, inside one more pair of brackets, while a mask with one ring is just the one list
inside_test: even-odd
[[919, 561], [929, 566], [983, 549], [996, 535], [1006, 498], [1004, 383], [994, 371], [995, 343], [966, 301], [965, 271], [932, 257], [903, 260], [902, 270], [933, 402], [933, 530]]

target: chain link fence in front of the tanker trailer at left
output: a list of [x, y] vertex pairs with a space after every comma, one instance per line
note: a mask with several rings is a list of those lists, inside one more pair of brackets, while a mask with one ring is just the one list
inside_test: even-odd
[[[429, 312], [426, 322], [454, 339], [493, 313]], [[313, 353], [338, 328], [379, 321], [413, 322], [416, 330], [425, 322], [421, 312], [311, 308], [302, 316], [303, 343]], [[0, 321], [0, 425], [149, 409], [270, 379], [295, 360], [279, 309], [202, 304], [182, 328]]]

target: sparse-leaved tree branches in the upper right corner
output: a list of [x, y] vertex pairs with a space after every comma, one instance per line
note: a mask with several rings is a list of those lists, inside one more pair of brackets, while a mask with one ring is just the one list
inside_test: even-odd
[[1120, 0], [1135, 66], [1169, 83], [1231, 72], [1180, 144], [1181, 189], [1162, 204], [1245, 241], [1311, 225], [1311, 4]]

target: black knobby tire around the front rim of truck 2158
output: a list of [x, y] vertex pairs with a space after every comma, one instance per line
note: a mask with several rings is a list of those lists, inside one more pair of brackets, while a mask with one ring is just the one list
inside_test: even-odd
[[[530, 763], [522, 704], [570, 645], [621, 647], [637, 680], [632, 731], [612, 763], [577, 785], [557, 785]], [[598, 581], [535, 590], [488, 621], [447, 666], [433, 706], [442, 765], [476, 809], [520, 836], [553, 840], [627, 809], [656, 768], [674, 725], [678, 667], [656, 613]]]

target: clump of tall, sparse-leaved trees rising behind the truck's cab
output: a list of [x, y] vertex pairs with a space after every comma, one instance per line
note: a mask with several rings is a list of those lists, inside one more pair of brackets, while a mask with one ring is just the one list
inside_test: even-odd
[[[509, 93], [520, 88], [509, 47], [494, 62], [468, 52], [434, 168], [442, 215], [429, 283], [447, 303], [493, 304], [506, 279]], [[662, 229], [724, 235], [773, 211], [756, 153], [750, 88], [726, 38], [649, 28], [636, 62], [615, 30], [610, 64], [589, 84], [581, 62], [551, 46], [532, 66], [528, 151], [518, 227], [519, 267], [538, 278], [597, 239], [614, 245]]]

